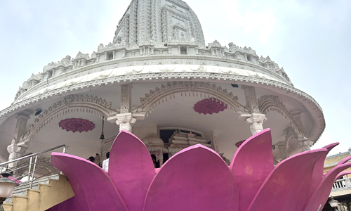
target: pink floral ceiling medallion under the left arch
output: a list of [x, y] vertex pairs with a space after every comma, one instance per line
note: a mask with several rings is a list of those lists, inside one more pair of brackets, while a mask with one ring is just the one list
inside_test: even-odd
[[83, 120], [83, 119], [65, 119], [61, 120], [60, 123], [58, 123], [58, 126], [60, 126], [62, 129], [67, 130], [67, 132], [72, 131], [72, 132], [88, 132], [89, 130], [93, 130], [95, 128], [95, 124], [89, 120]]

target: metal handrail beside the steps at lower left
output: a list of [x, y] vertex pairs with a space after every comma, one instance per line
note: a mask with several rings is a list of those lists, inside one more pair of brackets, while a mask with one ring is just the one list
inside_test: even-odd
[[[66, 146], [65, 144], [62, 144], [60, 146], [55, 146], [53, 148], [49, 148], [46, 151], [41, 151], [39, 153], [30, 153], [29, 155], [25, 155], [25, 156], [23, 156], [21, 158], [17, 158], [17, 159], [14, 159], [14, 160], [9, 160], [7, 162], [0, 163], [0, 173], [4, 172], [4, 171], [6, 171], [6, 172], [16, 172], [18, 170], [23, 170], [24, 168], [28, 168], [28, 173], [27, 174], [22, 174], [19, 177], [13, 178], [12, 180], [13, 181], [18, 181], [20, 179], [23, 179], [24, 177], [28, 177], [27, 181], [20, 183], [20, 186], [23, 186], [23, 185], [26, 185], [26, 184], [30, 183], [30, 188], [32, 188], [33, 181], [35, 181], [37, 179], [41, 179], [42, 177], [45, 177], [48, 174], [53, 174], [54, 172], [58, 171], [58, 170], [55, 170], [53, 172], [48, 172], [48, 174], [41, 175], [41, 177], [37, 177], [37, 178], [34, 177], [34, 174], [36, 172], [51, 166], [51, 164], [49, 164], [49, 165], [46, 165], [44, 167], [41, 167], [41, 168], [37, 169], [37, 164], [39, 162], [43, 162], [43, 161], [51, 159], [51, 158], [45, 158], [45, 159], [41, 159], [41, 160], [38, 161], [38, 156], [42, 155], [44, 153], [49, 153], [49, 152], [54, 151], [54, 150], [56, 150], [58, 148], [63, 148], [63, 153], [66, 153], [68, 146]], [[29, 164], [24, 162], [27, 159], [29, 159]], [[9, 164], [15, 163], [15, 162], [20, 162], [20, 163], [17, 166], [15, 166], [15, 167], [11, 167], [11, 168], [8, 167]]]

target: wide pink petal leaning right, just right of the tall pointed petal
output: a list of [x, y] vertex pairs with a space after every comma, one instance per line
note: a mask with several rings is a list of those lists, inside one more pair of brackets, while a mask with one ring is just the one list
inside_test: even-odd
[[253, 198], [249, 210], [302, 210], [310, 197], [314, 165], [326, 153], [326, 149], [307, 151], [279, 162]]

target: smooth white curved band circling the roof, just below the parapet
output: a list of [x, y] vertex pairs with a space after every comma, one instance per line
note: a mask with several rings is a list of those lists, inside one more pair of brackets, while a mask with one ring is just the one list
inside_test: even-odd
[[[118, 60], [119, 63], [117, 63], [117, 60], [112, 60], [112, 63], [110, 63], [110, 61], [107, 61], [105, 63], [95, 63], [94, 65], [89, 65], [83, 68], [78, 68], [69, 72], [62, 73], [61, 75], [52, 77], [47, 81], [45, 80], [44, 82], [40, 82], [34, 87], [29, 87], [27, 91], [21, 91], [21, 94], [16, 98], [16, 101], [14, 103], [22, 101], [27, 96], [32, 96], [32, 94], [41, 89], [47, 89], [47, 87], [52, 87], [62, 82], [67, 83], [69, 80], [74, 81], [79, 77], [86, 77], [87, 75], [91, 75], [96, 72], [102, 72], [102, 75], [104, 75], [106, 70], [118, 69], [118, 75], [131, 75], [164, 71], [177, 72], [176, 68], [174, 67], [165, 68], [162, 66], [161, 69], [157, 70], [153, 68], [154, 65], [189, 65], [189, 67], [181, 67], [181, 70], [178, 70], [178, 72], [184, 72], [186, 70], [187, 72], [215, 72], [230, 75], [247, 75], [252, 77], [277, 80], [288, 84], [281, 75], [272, 70], [239, 60], [221, 58], [211, 59], [211, 57], [199, 59], [199, 56], [188, 56], [187, 59], [182, 58], [183, 56], [174, 57], [175, 58], [165, 59], [164, 57], [159, 56], [148, 56], [144, 57], [142, 60], [140, 60], [140, 57], [136, 57], [128, 58], [126, 60]], [[208, 68], [206, 68], [207, 65], [209, 66]], [[149, 66], [149, 68], [145, 66]]]

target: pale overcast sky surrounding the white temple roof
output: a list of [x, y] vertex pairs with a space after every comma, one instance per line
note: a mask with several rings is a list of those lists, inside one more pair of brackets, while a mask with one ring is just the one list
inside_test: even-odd
[[[187, 0], [206, 43], [251, 46], [284, 67], [322, 106], [326, 130], [313, 148], [351, 146], [350, 0]], [[0, 6], [0, 110], [44, 65], [108, 44], [130, 1], [4, 0]]]

